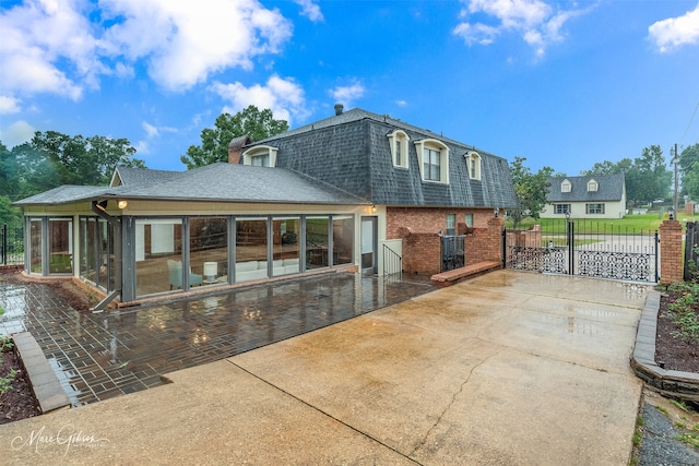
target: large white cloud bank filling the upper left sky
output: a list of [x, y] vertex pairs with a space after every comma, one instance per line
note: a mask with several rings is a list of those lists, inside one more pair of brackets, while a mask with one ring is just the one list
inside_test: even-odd
[[185, 89], [217, 71], [250, 69], [292, 35], [288, 20], [258, 0], [24, 0], [0, 10], [0, 93], [71, 99], [102, 75], [132, 77], [140, 67]]

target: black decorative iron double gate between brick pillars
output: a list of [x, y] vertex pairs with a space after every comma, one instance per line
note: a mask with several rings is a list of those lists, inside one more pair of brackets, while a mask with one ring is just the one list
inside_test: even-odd
[[656, 283], [657, 231], [596, 220], [545, 220], [530, 230], [503, 231], [507, 268]]

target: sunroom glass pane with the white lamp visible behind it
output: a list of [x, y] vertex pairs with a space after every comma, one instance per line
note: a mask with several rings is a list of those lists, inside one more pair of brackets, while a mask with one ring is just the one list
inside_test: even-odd
[[228, 220], [225, 217], [190, 218], [189, 264], [204, 285], [228, 282]]

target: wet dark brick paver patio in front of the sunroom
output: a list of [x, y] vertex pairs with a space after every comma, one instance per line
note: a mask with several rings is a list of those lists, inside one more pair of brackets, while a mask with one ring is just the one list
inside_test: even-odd
[[0, 335], [36, 338], [73, 406], [162, 385], [161, 375], [433, 291], [425, 277], [334, 273], [158, 306], [81, 313], [42, 284], [0, 283]]

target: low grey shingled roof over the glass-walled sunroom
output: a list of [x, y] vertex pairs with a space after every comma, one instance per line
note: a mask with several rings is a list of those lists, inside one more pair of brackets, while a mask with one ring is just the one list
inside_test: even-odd
[[[67, 204], [96, 199], [218, 201], [293, 204], [366, 204], [321, 181], [286, 169], [216, 163], [188, 171], [129, 168], [118, 187], [60, 187], [16, 205]], [[122, 181], [125, 178], [122, 178]]]

